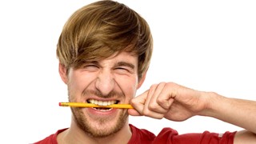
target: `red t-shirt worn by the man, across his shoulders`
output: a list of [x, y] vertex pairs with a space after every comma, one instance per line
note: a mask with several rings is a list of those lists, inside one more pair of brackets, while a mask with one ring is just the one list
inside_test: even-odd
[[[210, 133], [208, 131], [201, 133], [191, 133], [191, 134], [178, 134], [176, 130], [171, 128], [164, 128], [162, 131], [155, 136], [148, 130], [138, 129], [137, 127], [130, 125], [132, 130], [132, 137], [128, 144], [159, 144], [159, 143], [169, 143], [169, 144], [233, 144], [234, 134], [226, 132], [224, 134]], [[55, 134], [51, 134], [49, 137], [42, 139], [34, 144], [58, 144], [57, 135], [66, 129], [58, 130]]]

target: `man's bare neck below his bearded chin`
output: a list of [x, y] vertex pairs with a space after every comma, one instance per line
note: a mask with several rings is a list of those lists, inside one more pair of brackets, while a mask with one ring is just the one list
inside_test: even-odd
[[58, 144], [72, 144], [72, 143], [91, 143], [91, 144], [119, 144], [119, 143], [128, 143], [131, 138], [131, 130], [129, 122], [127, 120], [126, 124], [115, 134], [104, 138], [93, 138], [90, 135], [86, 134], [81, 130], [77, 124], [72, 121], [70, 129], [63, 131], [61, 134], [58, 134], [57, 141]]

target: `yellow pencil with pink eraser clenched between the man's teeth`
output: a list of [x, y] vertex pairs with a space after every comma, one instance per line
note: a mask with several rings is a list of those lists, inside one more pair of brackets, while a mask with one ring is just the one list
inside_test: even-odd
[[93, 103], [84, 103], [84, 102], [59, 102], [59, 106], [70, 106], [70, 107], [106, 107], [106, 108], [115, 108], [115, 109], [133, 109], [133, 106], [129, 104], [113, 104], [108, 106], [98, 106]]

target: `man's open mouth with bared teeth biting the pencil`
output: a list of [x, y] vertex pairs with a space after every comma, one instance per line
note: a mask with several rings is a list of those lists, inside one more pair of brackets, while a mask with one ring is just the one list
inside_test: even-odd
[[96, 100], [96, 99], [88, 99], [86, 102], [87, 103], [92, 103], [94, 105], [102, 106], [102, 107], [93, 107], [94, 110], [99, 110], [99, 111], [110, 111], [113, 108], [108, 108], [108, 107], [104, 107], [104, 106], [110, 106], [110, 105], [119, 103], [118, 100], [100, 101], [100, 100]]

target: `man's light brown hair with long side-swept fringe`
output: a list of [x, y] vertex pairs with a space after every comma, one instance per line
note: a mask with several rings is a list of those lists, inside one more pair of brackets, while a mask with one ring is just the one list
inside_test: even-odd
[[138, 56], [138, 78], [150, 65], [153, 39], [146, 20], [119, 2], [98, 1], [70, 16], [58, 39], [57, 57], [66, 66], [108, 58], [117, 52]]

